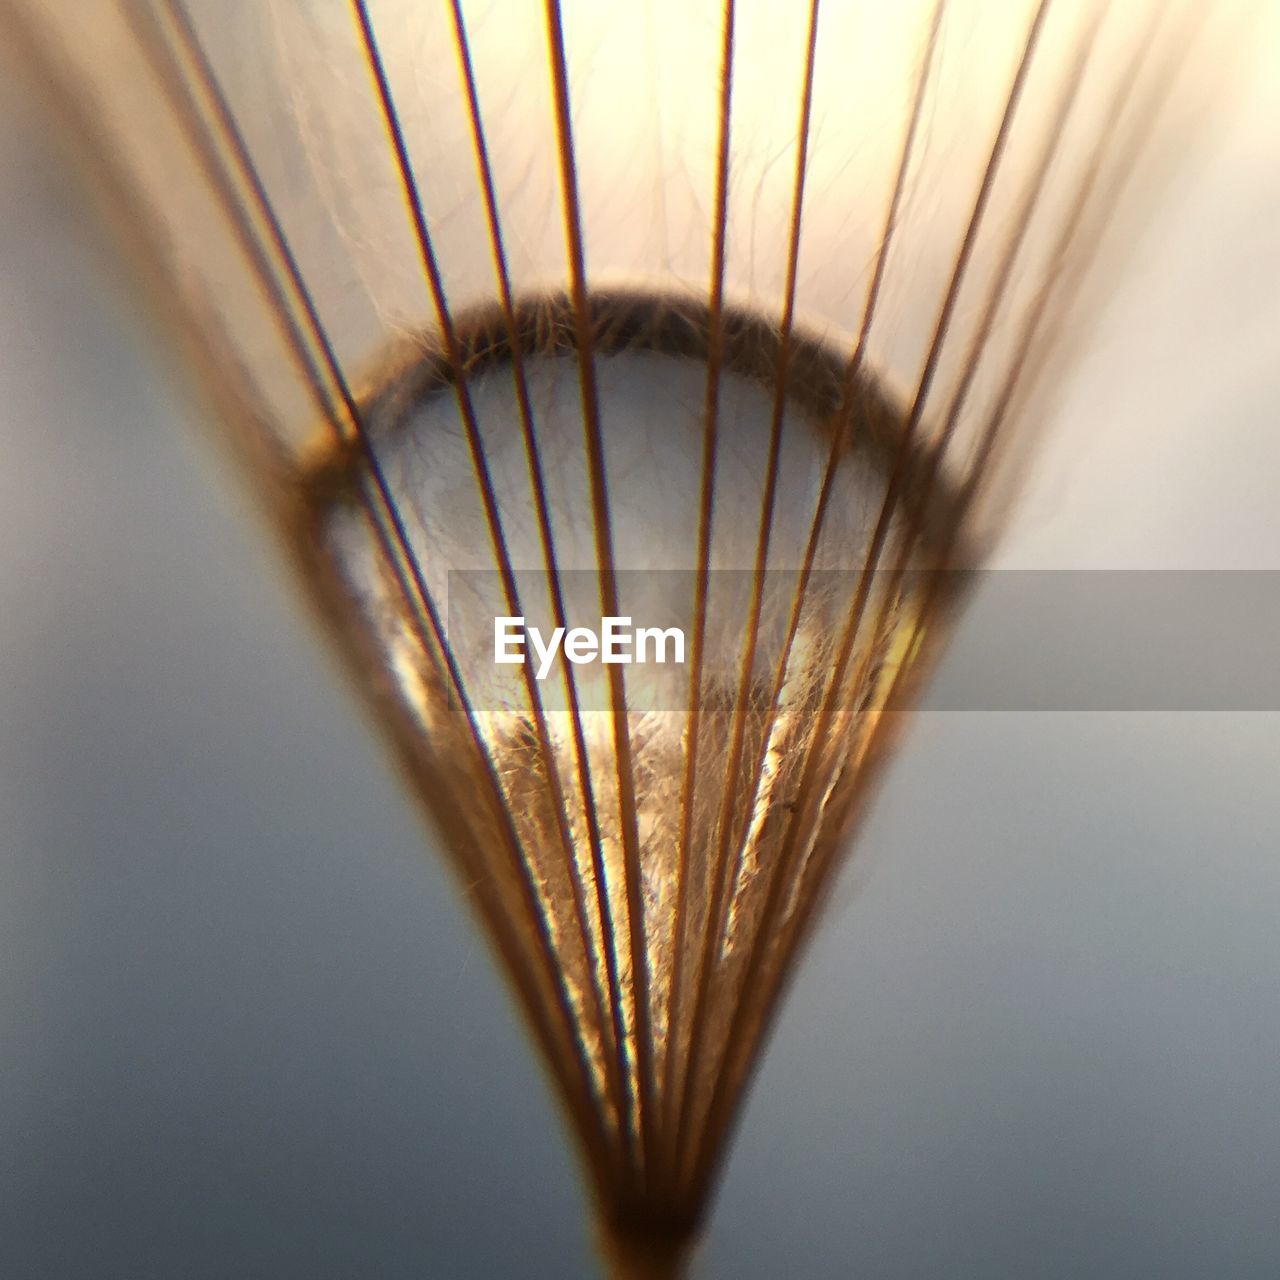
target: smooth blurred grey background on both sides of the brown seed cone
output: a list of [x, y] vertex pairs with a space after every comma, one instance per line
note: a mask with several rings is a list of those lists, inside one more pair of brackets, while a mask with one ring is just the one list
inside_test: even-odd
[[[1004, 563], [1280, 567], [1267, 138], [1140, 248]], [[0, 161], [0, 1276], [591, 1275], [256, 512], [38, 134]], [[699, 1275], [1280, 1275], [1277, 777], [1274, 714], [919, 717]]]

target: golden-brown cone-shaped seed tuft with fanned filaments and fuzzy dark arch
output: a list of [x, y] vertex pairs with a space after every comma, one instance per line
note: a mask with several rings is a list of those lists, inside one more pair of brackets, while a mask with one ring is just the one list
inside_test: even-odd
[[[704, 1211], [943, 630], [906, 571], [987, 545], [1231, 8], [0, 0], [632, 1270]], [[584, 609], [687, 660], [494, 667], [485, 620]]]

